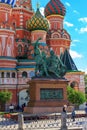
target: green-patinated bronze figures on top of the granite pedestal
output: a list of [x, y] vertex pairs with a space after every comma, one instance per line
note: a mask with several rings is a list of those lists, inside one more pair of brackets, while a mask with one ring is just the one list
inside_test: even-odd
[[40, 78], [62, 78], [66, 73], [66, 66], [55, 55], [53, 50], [50, 50], [49, 57], [44, 51], [41, 52], [39, 40], [40, 38], [34, 43], [34, 56], [36, 61], [35, 76]]

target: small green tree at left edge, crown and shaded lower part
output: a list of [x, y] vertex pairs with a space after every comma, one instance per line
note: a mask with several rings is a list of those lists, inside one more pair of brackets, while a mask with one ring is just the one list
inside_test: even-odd
[[5, 104], [12, 98], [12, 93], [9, 91], [0, 91], [0, 109], [5, 109]]

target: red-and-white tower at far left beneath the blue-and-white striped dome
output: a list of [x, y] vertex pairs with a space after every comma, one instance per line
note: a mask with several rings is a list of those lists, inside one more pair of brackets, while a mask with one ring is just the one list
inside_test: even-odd
[[[15, 60], [15, 30], [11, 24], [10, 13], [15, 0], [0, 1], [0, 67], [14, 68]], [[9, 62], [8, 62], [9, 61]]]

